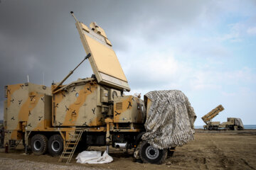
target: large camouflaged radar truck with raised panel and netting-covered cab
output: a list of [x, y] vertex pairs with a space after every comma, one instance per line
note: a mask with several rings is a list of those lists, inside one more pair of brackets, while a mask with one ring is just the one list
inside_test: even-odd
[[63, 84], [80, 62], [50, 87], [29, 82], [5, 86], [4, 128], [10, 147], [22, 141], [26, 152], [48, 152], [67, 163], [77, 147], [107, 146], [107, 152], [109, 146], [134, 148], [136, 159], [161, 164], [175, 147], [193, 140], [196, 114], [181, 91], [149, 92], [145, 103], [140, 95], [124, 95], [129, 84], [105, 31], [76, 18], [75, 26], [87, 53], [82, 62], [89, 60], [94, 74]]

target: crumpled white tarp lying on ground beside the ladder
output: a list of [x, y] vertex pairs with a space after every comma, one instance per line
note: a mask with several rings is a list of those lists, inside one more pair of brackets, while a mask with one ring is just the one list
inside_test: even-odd
[[83, 151], [75, 159], [78, 159], [77, 163], [81, 164], [106, 164], [113, 161], [106, 151], [102, 156], [100, 151]]

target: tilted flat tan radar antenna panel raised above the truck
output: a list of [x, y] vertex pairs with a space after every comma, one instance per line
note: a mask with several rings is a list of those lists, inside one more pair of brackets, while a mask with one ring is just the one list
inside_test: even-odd
[[[75, 18], [73, 12], [70, 13]], [[90, 23], [89, 28], [76, 18], [75, 21], [85, 52], [91, 54], [89, 61], [98, 83], [130, 91], [127, 78], [105, 31], [97, 23]]]

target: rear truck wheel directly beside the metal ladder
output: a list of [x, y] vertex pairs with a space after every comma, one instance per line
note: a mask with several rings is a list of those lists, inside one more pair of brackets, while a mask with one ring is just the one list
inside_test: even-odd
[[60, 135], [52, 135], [48, 140], [48, 152], [56, 157], [63, 152], [63, 138]]

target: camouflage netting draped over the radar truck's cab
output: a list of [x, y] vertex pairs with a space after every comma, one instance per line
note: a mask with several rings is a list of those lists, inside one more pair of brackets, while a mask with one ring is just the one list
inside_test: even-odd
[[181, 91], [150, 91], [144, 96], [152, 103], [146, 115], [146, 133], [142, 140], [158, 149], [186, 144], [193, 140], [196, 114]]

